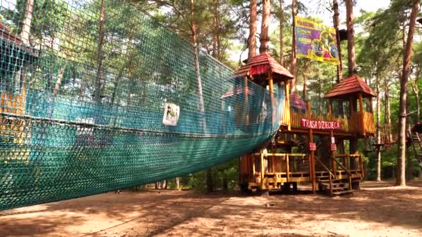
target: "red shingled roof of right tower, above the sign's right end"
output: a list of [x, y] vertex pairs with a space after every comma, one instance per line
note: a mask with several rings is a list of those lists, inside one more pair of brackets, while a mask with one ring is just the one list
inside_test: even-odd
[[335, 85], [327, 94], [325, 98], [346, 98], [351, 94], [362, 93], [362, 97], [375, 97], [372, 89], [362, 80], [362, 78], [353, 75], [344, 78], [337, 85]]

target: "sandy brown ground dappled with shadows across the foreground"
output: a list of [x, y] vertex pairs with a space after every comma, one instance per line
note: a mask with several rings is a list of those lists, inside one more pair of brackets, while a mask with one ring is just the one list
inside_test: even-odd
[[105, 193], [0, 211], [0, 236], [422, 236], [422, 182], [337, 198]]

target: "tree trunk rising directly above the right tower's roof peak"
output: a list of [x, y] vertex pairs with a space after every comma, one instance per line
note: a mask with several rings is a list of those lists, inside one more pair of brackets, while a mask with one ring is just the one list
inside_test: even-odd
[[346, 0], [348, 75], [356, 73], [355, 29], [353, 28], [353, 0]]

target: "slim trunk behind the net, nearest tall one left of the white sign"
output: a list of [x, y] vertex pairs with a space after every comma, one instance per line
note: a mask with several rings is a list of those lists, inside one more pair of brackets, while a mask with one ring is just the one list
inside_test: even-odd
[[95, 91], [94, 91], [94, 100], [96, 103], [101, 103], [101, 87], [103, 80], [103, 44], [104, 44], [104, 0], [101, 0], [101, 12], [100, 12], [100, 22], [99, 22], [99, 43], [97, 58], [98, 67], [96, 69], [96, 78], [95, 78]]

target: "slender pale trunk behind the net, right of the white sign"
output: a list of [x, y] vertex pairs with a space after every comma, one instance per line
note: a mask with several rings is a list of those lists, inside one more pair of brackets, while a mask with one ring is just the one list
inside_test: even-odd
[[199, 68], [199, 51], [198, 51], [198, 42], [196, 40], [196, 24], [195, 24], [195, 2], [190, 0], [190, 17], [191, 17], [191, 30], [192, 30], [192, 44], [194, 44], [194, 65], [195, 65], [195, 74], [196, 82], [198, 86], [198, 95], [199, 95], [199, 110], [202, 116], [202, 127], [203, 133], [207, 132], [207, 122], [205, 120], [205, 104], [203, 101], [203, 90], [202, 90], [202, 79], [201, 79], [201, 69]]

